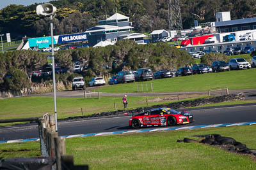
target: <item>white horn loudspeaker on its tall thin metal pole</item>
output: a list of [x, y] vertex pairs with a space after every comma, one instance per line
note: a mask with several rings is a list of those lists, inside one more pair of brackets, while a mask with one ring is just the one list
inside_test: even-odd
[[51, 43], [52, 43], [52, 83], [53, 83], [53, 94], [54, 94], [54, 117], [55, 117], [55, 131], [58, 132], [57, 125], [57, 103], [56, 103], [56, 83], [55, 83], [55, 61], [54, 61], [54, 45], [53, 45], [53, 24], [52, 18], [57, 8], [52, 4], [45, 3], [36, 6], [36, 13], [40, 16], [50, 16], [51, 17]]

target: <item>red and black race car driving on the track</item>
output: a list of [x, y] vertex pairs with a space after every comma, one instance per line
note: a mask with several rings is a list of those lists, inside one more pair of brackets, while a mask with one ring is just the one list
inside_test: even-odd
[[193, 121], [193, 115], [187, 111], [176, 111], [170, 108], [155, 108], [131, 117], [129, 126], [140, 128], [144, 126], [180, 125], [189, 124]]

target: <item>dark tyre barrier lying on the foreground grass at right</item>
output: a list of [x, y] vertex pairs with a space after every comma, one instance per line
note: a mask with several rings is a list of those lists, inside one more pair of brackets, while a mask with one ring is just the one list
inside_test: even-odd
[[256, 156], [256, 149], [247, 148], [245, 144], [236, 141], [234, 138], [221, 136], [220, 134], [195, 135], [192, 137], [204, 138], [201, 141], [184, 138], [177, 139], [178, 143], [204, 143], [207, 145], [220, 146], [221, 149], [240, 154], [252, 154]]

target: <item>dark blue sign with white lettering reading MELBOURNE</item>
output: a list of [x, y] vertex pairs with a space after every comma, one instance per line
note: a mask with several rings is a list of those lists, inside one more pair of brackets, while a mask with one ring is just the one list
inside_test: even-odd
[[71, 42], [75, 42], [75, 41], [86, 41], [86, 40], [87, 40], [86, 33], [68, 34], [68, 35], [59, 36], [58, 44], [71, 43]]

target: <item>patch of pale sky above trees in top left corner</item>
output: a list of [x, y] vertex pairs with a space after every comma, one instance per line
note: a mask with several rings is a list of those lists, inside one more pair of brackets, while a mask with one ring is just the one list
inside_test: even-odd
[[0, 10], [2, 10], [4, 7], [10, 4], [22, 4], [24, 6], [28, 6], [30, 4], [47, 3], [49, 1], [50, 0], [0, 0]]

